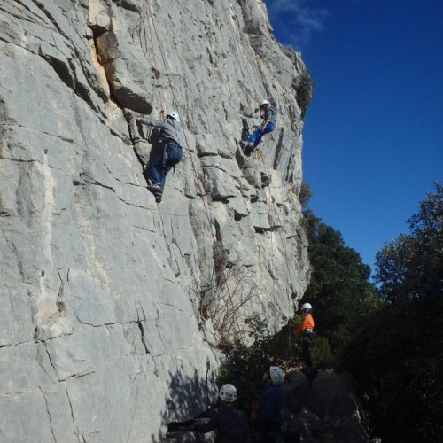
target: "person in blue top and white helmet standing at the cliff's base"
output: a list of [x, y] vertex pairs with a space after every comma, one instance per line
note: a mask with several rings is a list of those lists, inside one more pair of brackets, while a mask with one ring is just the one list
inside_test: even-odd
[[260, 405], [254, 405], [251, 418], [254, 428], [260, 432], [260, 440], [276, 441], [284, 421], [283, 369], [270, 366], [263, 374], [262, 381], [267, 388], [261, 396]]

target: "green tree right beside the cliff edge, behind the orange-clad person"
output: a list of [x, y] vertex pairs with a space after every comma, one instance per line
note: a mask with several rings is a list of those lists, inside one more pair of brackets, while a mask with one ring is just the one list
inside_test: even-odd
[[304, 299], [314, 306], [315, 330], [340, 354], [356, 329], [379, 305], [370, 268], [340, 232], [324, 224], [312, 211], [305, 212], [309, 259], [313, 269]]

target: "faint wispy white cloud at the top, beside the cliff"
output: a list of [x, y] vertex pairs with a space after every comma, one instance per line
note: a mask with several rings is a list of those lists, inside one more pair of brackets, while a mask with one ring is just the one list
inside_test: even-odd
[[[271, 24], [283, 43], [301, 51], [307, 47], [315, 32], [324, 29], [329, 12], [315, 6], [315, 0], [265, 0]], [[278, 28], [278, 29], [277, 29]]]

